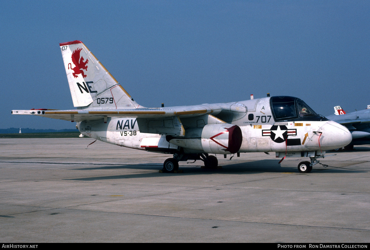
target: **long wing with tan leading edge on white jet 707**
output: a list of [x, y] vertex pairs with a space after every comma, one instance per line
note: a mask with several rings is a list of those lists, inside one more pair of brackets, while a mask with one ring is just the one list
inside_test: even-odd
[[214, 106], [178, 106], [169, 108], [142, 108], [142, 109], [108, 109], [108, 110], [50, 110], [50, 109], [31, 109], [31, 110], [12, 110], [12, 114], [28, 114], [66, 121], [85, 121], [101, 120], [106, 117], [133, 117], [143, 119], [164, 119], [178, 116], [179, 118], [189, 118], [201, 116], [203, 114], [218, 114], [221, 107]]

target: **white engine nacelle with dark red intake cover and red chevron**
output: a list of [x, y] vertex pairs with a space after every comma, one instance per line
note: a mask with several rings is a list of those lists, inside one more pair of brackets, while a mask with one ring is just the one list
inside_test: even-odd
[[243, 140], [240, 127], [228, 123], [207, 124], [203, 128], [187, 129], [185, 136], [186, 138], [168, 136], [167, 140], [185, 149], [209, 154], [235, 154]]

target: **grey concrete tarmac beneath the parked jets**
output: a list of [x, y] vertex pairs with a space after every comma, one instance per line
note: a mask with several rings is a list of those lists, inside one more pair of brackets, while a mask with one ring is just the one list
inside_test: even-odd
[[0, 139], [1, 242], [370, 241], [369, 145], [309, 174], [275, 153], [166, 174], [172, 155], [92, 141]]

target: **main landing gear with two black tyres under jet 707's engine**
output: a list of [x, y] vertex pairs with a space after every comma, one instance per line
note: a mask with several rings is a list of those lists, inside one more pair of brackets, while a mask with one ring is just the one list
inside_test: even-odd
[[174, 173], [179, 169], [179, 161], [187, 160], [201, 160], [204, 162], [204, 168], [216, 169], [218, 167], [218, 160], [214, 155], [208, 154], [174, 154], [173, 158], [168, 158], [163, 163], [163, 172]]

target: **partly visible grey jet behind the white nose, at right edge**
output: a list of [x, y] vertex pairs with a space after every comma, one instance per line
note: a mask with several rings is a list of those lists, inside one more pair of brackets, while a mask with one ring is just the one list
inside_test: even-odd
[[[336, 121], [349, 129], [352, 135], [352, 141], [349, 145], [343, 147], [344, 149], [352, 150], [353, 145], [370, 144], [370, 105], [364, 110], [346, 113], [342, 107], [335, 106], [334, 114], [326, 118]], [[342, 150], [337, 148], [336, 150]]]

